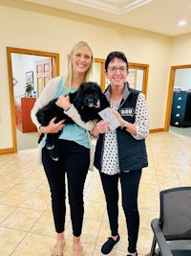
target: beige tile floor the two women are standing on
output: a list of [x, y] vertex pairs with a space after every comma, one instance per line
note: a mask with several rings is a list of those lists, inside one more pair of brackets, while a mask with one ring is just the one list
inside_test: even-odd
[[[191, 186], [191, 139], [168, 132], [151, 133], [146, 140], [149, 167], [143, 170], [138, 204], [140, 229], [138, 256], [151, 247], [150, 222], [159, 217], [159, 191]], [[0, 155], [0, 255], [51, 256], [55, 233], [50, 192], [36, 150]], [[85, 185], [85, 218], [82, 243], [85, 256], [100, 255], [109, 236], [105, 201], [97, 171], [89, 172]], [[72, 231], [67, 208], [67, 244], [64, 256], [72, 256]], [[111, 256], [126, 255], [126, 228], [120, 207], [121, 242]]]

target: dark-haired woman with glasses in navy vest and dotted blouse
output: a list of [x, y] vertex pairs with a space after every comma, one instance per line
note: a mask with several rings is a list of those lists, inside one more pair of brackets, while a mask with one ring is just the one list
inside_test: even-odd
[[111, 237], [101, 247], [109, 255], [119, 242], [118, 180], [121, 186], [122, 208], [128, 232], [128, 254], [137, 256], [138, 185], [142, 168], [148, 166], [145, 138], [149, 133], [149, 117], [145, 96], [129, 87], [128, 61], [121, 52], [112, 52], [105, 61], [105, 75], [110, 81], [105, 95], [113, 109], [119, 127], [111, 130], [108, 121], [100, 121], [92, 131], [97, 138], [95, 166], [100, 173], [107, 203]]

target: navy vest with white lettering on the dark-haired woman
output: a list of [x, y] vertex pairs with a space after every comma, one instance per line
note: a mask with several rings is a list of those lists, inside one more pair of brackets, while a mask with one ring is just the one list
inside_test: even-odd
[[[125, 84], [128, 86], [128, 84]], [[128, 88], [129, 94], [125, 100], [121, 102], [118, 112], [124, 120], [135, 123], [135, 109], [138, 100], [138, 90]], [[101, 157], [103, 147], [104, 134], [100, 134], [96, 142], [95, 167], [101, 170]], [[138, 171], [148, 166], [147, 152], [145, 140], [136, 140], [129, 132], [121, 128], [117, 128], [117, 146], [119, 157], [120, 172]]]

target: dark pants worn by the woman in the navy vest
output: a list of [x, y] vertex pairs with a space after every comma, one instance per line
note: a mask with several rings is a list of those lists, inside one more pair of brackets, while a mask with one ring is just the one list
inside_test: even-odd
[[128, 251], [131, 253], [136, 252], [138, 243], [138, 185], [140, 176], [141, 170], [120, 173], [120, 175], [100, 173], [112, 236], [118, 234], [118, 179], [120, 179], [122, 207], [128, 232]]

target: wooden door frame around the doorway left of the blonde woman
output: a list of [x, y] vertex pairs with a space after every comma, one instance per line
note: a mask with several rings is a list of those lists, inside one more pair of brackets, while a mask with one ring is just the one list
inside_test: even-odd
[[11, 133], [12, 133], [12, 144], [13, 152], [17, 152], [17, 138], [16, 138], [16, 122], [15, 122], [15, 106], [14, 106], [14, 94], [12, 86], [12, 68], [11, 68], [11, 54], [23, 54], [32, 56], [42, 56], [48, 58], [54, 58], [53, 65], [53, 76], [59, 76], [59, 54], [51, 52], [42, 52], [36, 50], [28, 50], [22, 48], [7, 47], [7, 59], [8, 59], [8, 74], [9, 74], [9, 84], [10, 84], [10, 101], [11, 101]]

